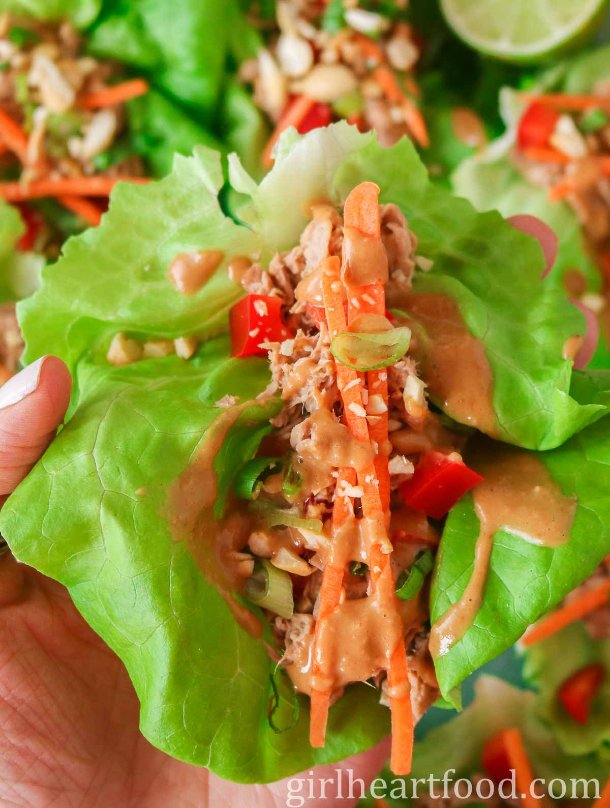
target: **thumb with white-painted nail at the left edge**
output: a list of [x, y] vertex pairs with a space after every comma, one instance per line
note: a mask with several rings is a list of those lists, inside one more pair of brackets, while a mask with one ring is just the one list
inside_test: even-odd
[[0, 495], [40, 460], [68, 409], [72, 379], [56, 356], [29, 364], [0, 388]]

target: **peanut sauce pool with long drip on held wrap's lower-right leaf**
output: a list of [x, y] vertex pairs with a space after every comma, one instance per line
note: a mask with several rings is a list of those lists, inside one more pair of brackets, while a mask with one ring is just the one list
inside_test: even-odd
[[469, 465], [483, 476], [472, 491], [480, 528], [474, 548], [474, 567], [464, 594], [432, 625], [430, 653], [446, 654], [474, 622], [483, 591], [495, 532], [542, 547], [570, 541], [576, 498], [567, 497], [544, 463], [532, 452], [481, 441]]

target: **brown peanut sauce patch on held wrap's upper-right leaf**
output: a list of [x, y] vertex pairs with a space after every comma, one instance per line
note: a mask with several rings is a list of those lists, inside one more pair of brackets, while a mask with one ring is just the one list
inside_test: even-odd
[[494, 380], [483, 343], [470, 334], [456, 301], [443, 294], [413, 294], [402, 303], [419, 323], [410, 353], [432, 399], [460, 423], [498, 436], [493, 407]]

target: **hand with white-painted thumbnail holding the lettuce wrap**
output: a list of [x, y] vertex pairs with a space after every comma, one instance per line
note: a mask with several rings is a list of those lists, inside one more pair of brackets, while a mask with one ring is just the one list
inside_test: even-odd
[[[2, 502], [55, 436], [70, 390], [68, 369], [53, 356], [0, 388]], [[286, 782], [235, 785], [173, 760], [142, 737], [138, 716], [123, 664], [82, 619], [65, 587], [10, 553], [0, 556], [2, 806], [286, 806]], [[388, 755], [383, 743], [328, 772], [316, 769], [315, 779], [336, 776], [341, 765], [368, 783]], [[307, 808], [333, 804], [330, 789], [323, 801], [307, 799], [307, 788], [302, 795]]]

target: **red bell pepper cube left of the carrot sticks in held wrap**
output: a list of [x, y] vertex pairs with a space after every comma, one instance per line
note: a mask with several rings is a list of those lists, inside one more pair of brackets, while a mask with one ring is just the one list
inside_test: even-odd
[[264, 342], [282, 342], [295, 335], [282, 320], [279, 297], [246, 295], [229, 312], [231, 356], [266, 356]]

